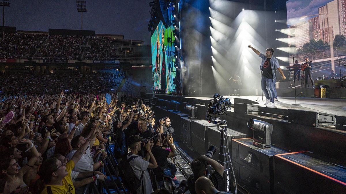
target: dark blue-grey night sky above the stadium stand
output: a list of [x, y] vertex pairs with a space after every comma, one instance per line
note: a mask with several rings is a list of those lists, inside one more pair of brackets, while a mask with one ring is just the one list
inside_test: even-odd
[[[125, 39], [148, 43], [151, 0], [86, 0], [83, 30], [121, 34]], [[48, 28], [81, 29], [81, 13], [75, 0], [10, 0], [5, 7], [5, 26], [17, 30], [48, 31]], [[0, 9], [2, 25], [2, 7]]]

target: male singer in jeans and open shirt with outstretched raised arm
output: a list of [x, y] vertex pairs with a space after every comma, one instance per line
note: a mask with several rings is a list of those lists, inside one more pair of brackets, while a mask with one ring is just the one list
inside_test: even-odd
[[275, 79], [276, 79], [276, 69], [279, 70], [280, 74], [282, 75], [282, 79], [286, 79], [285, 75], [283, 74], [282, 69], [280, 68], [279, 62], [275, 57], [273, 57], [274, 49], [273, 48], [267, 48], [265, 50], [265, 55], [261, 54], [258, 50], [253, 48], [251, 45], [249, 45], [249, 48], [251, 48], [258, 56], [262, 58], [260, 69], [262, 71], [262, 80], [261, 80], [261, 86], [263, 93], [265, 95], [265, 98], [267, 99], [264, 103], [266, 107], [275, 107], [274, 101], [277, 101], [276, 97], [276, 89], [275, 89]]

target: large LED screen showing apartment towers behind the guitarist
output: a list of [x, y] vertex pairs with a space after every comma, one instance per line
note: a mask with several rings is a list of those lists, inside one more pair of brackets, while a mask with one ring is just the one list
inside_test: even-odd
[[306, 57], [313, 60], [314, 79], [333, 75], [331, 70], [339, 74], [339, 66], [345, 74], [345, 58], [342, 57], [339, 64], [337, 57], [345, 55], [346, 50], [345, 10], [343, 0], [287, 1], [288, 29], [281, 30], [288, 34], [289, 48], [286, 51], [300, 64]]

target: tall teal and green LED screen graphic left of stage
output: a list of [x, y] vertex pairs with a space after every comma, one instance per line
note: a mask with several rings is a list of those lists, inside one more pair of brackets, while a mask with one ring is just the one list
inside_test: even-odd
[[175, 47], [173, 42], [174, 26], [165, 27], [160, 21], [151, 37], [152, 68], [153, 68], [153, 92], [171, 94], [175, 91], [173, 79], [176, 77], [174, 65]]

